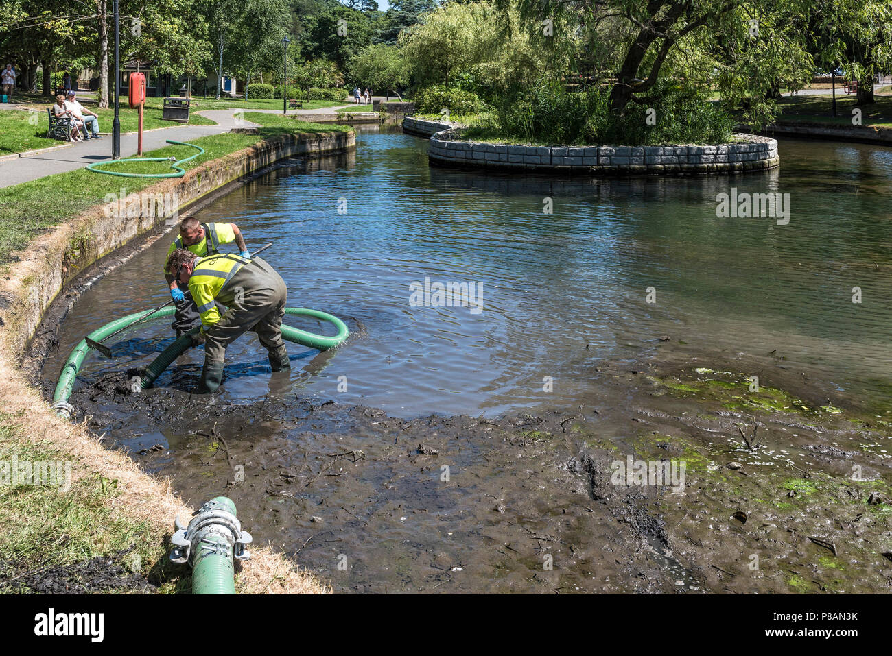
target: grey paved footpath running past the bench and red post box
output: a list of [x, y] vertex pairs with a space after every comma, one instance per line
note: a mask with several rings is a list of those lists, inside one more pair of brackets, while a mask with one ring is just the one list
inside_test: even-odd
[[[300, 116], [301, 119], [308, 120], [331, 119], [336, 116], [335, 110], [342, 106], [348, 107], [349, 105], [326, 107], [322, 110], [294, 110], [289, 111], [288, 115]], [[276, 110], [247, 111], [260, 111], [265, 114], [281, 113]], [[216, 121], [217, 125], [175, 126], [148, 130], [143, 133], [143, 151], [148, 152], [161, 148], [167, 145], [165, 143], [167, 139], [191, 141], [202, 136], [229, 132], [234, 127], [257, 127], [256, 123], [240, 119], [242, 112], [241, 110], [198, 111], [196, 113]], [[103, 129], [109, 127], [111, 126], [103, 126]], [[120, 135], [120, 156], [125, 158], [134, 155], [136, 155], [136, 133]], [[73, 143], [47, 152], [0, 160], [0, 187], [36, 180], [38, 177], [52, 176], [55, 173], [73, 171], [96, 161], [111, 161], [111, 135], [103, 134], [101, 139], [90, 139], [83, 143]]]

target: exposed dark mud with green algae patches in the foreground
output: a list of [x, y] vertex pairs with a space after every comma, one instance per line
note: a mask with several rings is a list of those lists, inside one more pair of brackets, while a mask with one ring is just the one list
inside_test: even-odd
[[[591, 359], [590, 398], [495, 420], [320, 404], [280, 374], [222, 405], [189, 396], [195, 367], [138, 396], [110, 373], [72, 398], [187, 500], [226, 488], [255, 538], [335, 590], [888, 591], [888, 415], [784, 390], [796, 373], [777, 365], [707, 359], [668, 344]], [[141, 438], [153, 424], [163, 443]], [[684, 480], [617, 479], [630, 458], [683, 463]]]

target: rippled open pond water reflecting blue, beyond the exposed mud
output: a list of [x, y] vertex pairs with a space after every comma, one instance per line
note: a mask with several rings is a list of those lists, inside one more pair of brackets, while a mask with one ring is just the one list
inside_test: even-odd
[[[425, 151], [409, 135], [360, 133], [355, 154], [306, 172], [279, 168], [199, 214], [237, 222], [255, 248], [273, 242], [268, 260], [291, 305], [368, 330], [324, 370], [295, 368], [302, 393], [403, 416], [500, 414], [548, 400], [547, 375], [554, 397], [572, 397], [584, 384], [569, 365], [581, 344], [596, 357], [634, 357], [628, 345], [665, 333], [710, 348], [777, 349], [838, 389], [888, 394], [892, 151], [787, 141], [782, 168], [764, 174], [570, 182], [429, 168]], [[789, 225], [717, 218], [715, 196], [731, 187], [789, 193]], [[543, 213], [545, 199], [553, 214]], [[167, 298], [167, 245], [85, 293], [47, 373], [84, 332]], [[475, 285], [483, 311], [412, 307], [410, 284], [425, 278]], [[141, 333], [169, 334], [157, 324]], [[256, 340], [230, 348], [227, 398], [257, 396], [264, 377], [235, 374], [260, 373], [264, 356]], [[82, 373], [107, 366], [92, 360]]]

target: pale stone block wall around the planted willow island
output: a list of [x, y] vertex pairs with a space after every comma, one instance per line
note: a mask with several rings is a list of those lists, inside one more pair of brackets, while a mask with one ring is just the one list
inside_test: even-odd
[[579, 171], [589, 175], [702, 175], [780, 164], [775, 139], [735, 135], [746, 143], [667, 146], [524, 146], [460, 141], [456, 128], [431, 137], [432, 164], [475, 168]]

